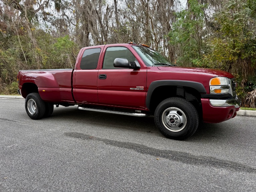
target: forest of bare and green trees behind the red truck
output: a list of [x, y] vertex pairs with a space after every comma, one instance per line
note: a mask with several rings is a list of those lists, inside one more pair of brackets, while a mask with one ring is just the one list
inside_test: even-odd
[[256, 107], [256, 0], [0, 0], [0, 93], [23, 69], [74, 68], [82, 47], [149, 45], [179, 66], [221, 69]]

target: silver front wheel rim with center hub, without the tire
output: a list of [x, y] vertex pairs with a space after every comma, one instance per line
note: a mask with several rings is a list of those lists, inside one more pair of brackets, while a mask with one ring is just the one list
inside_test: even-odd
[[162, 113], [162, 123], [169, 131], [179, 132], [186, 127], [187, 118], [182, 110], [170, 107]]

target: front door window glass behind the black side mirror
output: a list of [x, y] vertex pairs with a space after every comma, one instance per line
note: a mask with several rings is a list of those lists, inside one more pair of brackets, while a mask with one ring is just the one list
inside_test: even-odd
[[[128, 59], [128, 61], [137, 62], [137, 59], [132, 54], [132, 52], [126, 47], [108, 47], [105, 51], [103, 69], [115, 69], [114, 60], [116, 58]], [[120, 68], [121, 69], [121, 68]]]

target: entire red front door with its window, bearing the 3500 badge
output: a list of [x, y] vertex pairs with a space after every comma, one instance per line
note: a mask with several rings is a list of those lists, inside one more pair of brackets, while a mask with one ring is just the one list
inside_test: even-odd
[[[145, 109], [147, 67], [139, 63], [140, 69], [117, 68], [115, 58], [126, 58], [138, 62], [132, 47], [106, 45], [98, 71], [99, 103], [109, 106]], [[133, 53], [134, 54], [133, 54]]]

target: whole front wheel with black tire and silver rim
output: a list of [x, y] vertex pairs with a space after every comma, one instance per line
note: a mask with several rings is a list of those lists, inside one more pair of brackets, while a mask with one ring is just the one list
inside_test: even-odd
[[193, 135], [199, 125], [196, 108], [182, 98], [168, 98], [156, 108], [155, 124], [167, 138], [184, 140]]

